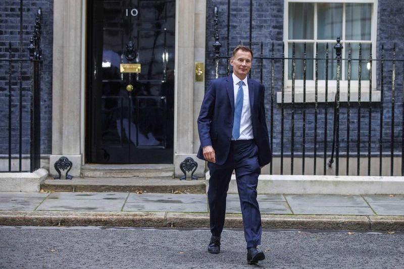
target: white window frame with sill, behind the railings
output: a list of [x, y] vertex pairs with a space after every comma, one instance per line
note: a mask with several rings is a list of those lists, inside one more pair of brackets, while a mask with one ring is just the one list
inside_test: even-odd
[[[315, 44], [317, 39], [310, 40], [289, 40], [289, 3], [370, 3], [372, 5], [372, 23], [371, 23], [371, 41], [361, 43], [370, 43], [372, 42], [372, 58], [376, 58], [376, 42], [377, 42], [377, 10], [378, 10], [378, 0], [284, 0], [284, 16], [283, 16], [283, 41], [285, 44], [285, 58], [288, 57], [288, 44], [294, 42], [310, 42]], [[314, 37], [317, 38], [317, 5], [315, 5], [314, 10]], [[343, 5], [343, 20], [342, 20], [342, 36], [341, 39], [345, 36], [345, 5]], [[335, 43], [336, 40], [321, 40], [321, 42], [328, 42], [329, 44]], [[345, 41], [345, 40], [344, 40]], [[309, 43], [308, 42], [308, 43]], [[342, 49], [342, 58], [347, 58], [347, 43], [359, 43], [356, 40], [346, 40], [346, 43], [343, 44], [344, 48]], [[315, 48], [314, 48], [315, 49]], [[329, 53], [335, 54], [335, 49], [332, 45], [329, 46]], [[320, 57], [320, 56], [319, 56]], [[321, 57], [322, 58], [322, 57]], [[330, 57], [331, 59], [331, 57]], [[341, 80], [340, 80], [340, 100], [347, 100], [347, 88], [348, 82], [347, 80], [342, 80], [345, 73], [345, 64], [341, 62]], [[380, 101], [380, 91], [376, 90], [376, 65], [377, 63], [374, 61], [372, 63], [372, 102]], [[288, 61], [285, 60], [285, 102], [291, 102], [291, 90], [292, 90], [292, 80], [288, 79]], [[314, 74], [315, 65], [313, 64], [313, 74]], [[335, 92], [336, 92], [336, 80], [328, 80], [328, 101], [333, 101]], [[318, 101], [324, 102], [325, 97], [325, 80], [318, 80]], [[306, 79], [306, 101], [314, 102], [314, 91], [315, 91], [315, 80]], [[295, 102], [302, 102], [303, 100], [303, 80], [295, 79]], [[350, 81], [350, 100], [357, 101], [358, 100], [358, 80]], [[369, 80], [361, 81], [361, 101], [369, 100]], [[277, 93], [277, 102], [281, 102], [281, 92]]]

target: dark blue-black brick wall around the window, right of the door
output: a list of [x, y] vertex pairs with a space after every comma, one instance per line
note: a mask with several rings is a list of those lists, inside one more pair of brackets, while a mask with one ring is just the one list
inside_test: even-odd
[[[249, 0], [231, 0], [231, 18], [230, 18], [230, 53], [240, 41], [243, 44], [249, 44]], [[260, 43], [263, 42], [263, 54], [270, 56], [271, 44], [275, 45], [275, 57], [282, 57], [282, 40], [283, 40], [283, 0], [259, 0], [252, 2], [252, 44], [251, 47], [255, 52], [255, 61], [251, 68], [251, 77], [260, 80]], [[221, 56], [226, 55], [227, 50], [227, 1], [225, 0], [208, 0], [207, 1], [207, 39], [206, 39], [206, 85], [215, 76], [214, 69], [214, 7], [218, 7], [219, 11], [219, 35], [222, 43]], [[396, 43], [396, 57], [404, 59], [403, 35], [404, 31], [404, 2], [399, 0], [380, 0], [378, 8], [378, 25], [377, 25], [377, 49], [381, 49], [381, 44], [384, 44], [385, 58], [392, 58], [393, 43]], [[332, 47], [332, 46], [331, 46]], [[335, 53], [334, 49], [330, 50]], [[374, 52], [373, 52], [374, 53]], [[321, 57], [321, 56], [319, 56]], [[380, 58], [380, 53], [377, 53]], [[375, 58], [375, 53], [374, 57]], [[219, 76], [226, 76], [226, 61], [221, 60], [219, 68]], [[264, 79], [263, 83], [266, 86], [265, 103], [267, 112], [268, 127], [270, 124], [270, 64], [269, 60], [264, 60]], [[395, 120], [394, 120], [394, 150], [401, 152], [401, 135], [402, 135], [402, 100], [403, 100], [403, 62], [396, 64], [396, 83], [395, 83]], [[380, 64], [378, 70], [377, 88], [380, 90]], [[384, 64], [384, 123], [383, 123], [383, 151], [389, 152], [390, 137], [391, 137], [391, 62]], [[275, 63], [275, 81], [274, 81], [274, 144], [273, 149], [275, 154], [280, 153], [280, 137], [281, 137], [281, 110], [280, 104], [276, 103], [276, 92], [281, 90], [282, 65], [280, 61]], [[231, 73], [231, 67], [230, 67]], [[351, 123], [350, 123], [350, 151], [356, 152], [356, 137], [357, 137], [357, 105], [351, 104]], [[368, 113], [369, 103], [362, 103], [361, 111], [361, 152], [367, 152], [368, 146]], [[318, 112], [318, 144], [317, 152], [324, 152], [324, 103], [319, 104]], [[379, 151], [379, 129], [380, 129], [380, 103], [372, 103], [372, 152]], [[347, 110], [346, 103], [341, 103], [340, 114], [340, 151], [345, 151], [346, 148], [346, 118]], [[302, 151], [302, 105], [295, 106], [295, 152]], [[333, 122], [333, 104], [328, 105], [328, 131], [327, 144], [328, 151], [331, 151], [332, 142], [332, 122]], [[284, 152], [290, 153], [291, 139], [291, 105], [285, 105], [285, 148]], [[306, 152], [314, 151], [314, 104], [307, 105], [307, 121], [306, 121]]]

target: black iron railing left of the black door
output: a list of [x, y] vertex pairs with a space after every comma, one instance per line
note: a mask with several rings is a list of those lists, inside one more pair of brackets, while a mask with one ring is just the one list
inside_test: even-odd
[[[8, 58], [0, 59], [0, 63], [8, 64], [8, 81], [5, 84], [4, 107], [7, 107], [8, 148], [2, 154], [2, 169], [0, 172], [33, 172], [40, 167], [40, 70], [41, 70], [41, 9], [38, 9], [35, 19], [33, 35], [30, 38], [29, 58], [23, 51], [23, 2], [20, 0], [20, 36], [17, 50], [9, 42]], [[13, 66], [18, 64], [17, 78]], [[3, 65], [4, 66], [4, 65]], [[30, 68], [29, 68], [30, 66]], [[7, 71], [6, 71], [7, 72]], [[28, 73], [28, 78], [25, 74]], [[13, 76], [14, 75], [14, 76]], [[28, 83], [28, 85], [26, 85]], [[29, 85], [30, 84], [30, 85]], [[28, 88], [28, 90], [27, 90]], [[28, 98], [27, 98], [28, 97]], [[29, 101], [27, 101], [27, 99]], [[17, 104], [17, 105], [16, 105]], [[29, 107], [29, 122], [27, 123], [25, 107]], [[16, 115], [17, 114], [17, 115]], [[25, 114], [24, 114], [25, 115]], [[29, 134], [29, 146], [25, 146], [23, 139]], [[3, 138], [5, 138], [3, 136]], [[29, 155], [29, 169], [23, 160]]]

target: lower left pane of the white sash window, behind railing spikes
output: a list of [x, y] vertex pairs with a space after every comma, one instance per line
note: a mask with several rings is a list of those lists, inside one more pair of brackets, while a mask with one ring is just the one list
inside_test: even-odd
[[[304, 57], [304, 43], [295, 44], [295, 58]], [[288, 45], [288, 58], [292, 58], [292, 44]], [[306, 57], [313, 58], [313, 44], [306, 44]], [[295, 79], [303, 79], [303, 60], [295, 60]], [[288, 79], [292, 79], [292, 60], [288, 60]], [[313, 60], [307, 60], [306, 79], [313, 79]]]

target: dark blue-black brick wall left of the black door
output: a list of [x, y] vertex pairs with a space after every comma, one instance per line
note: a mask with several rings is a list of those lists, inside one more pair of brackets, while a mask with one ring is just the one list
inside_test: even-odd
[[[52, 151], [52, 43], [53, 43], [53, 1], [23, 1], [23, 58], [29, 58], [28, 45], [38, 8], [42, 8], [42, 71], [41, 71], [41, 153]], [[20, 57], [20, 1], [0, 1], [0, 59], [9, 57], [9, 42], [12, 57]], [[30, 64], [25, 62], [23, 74], [23, 153], [29, 153], [30, 133]], [[12, 153], [19, 151], [19, 63], [12, 64]], [[9, 65], [0, 61], [0, 154], [8, 152], [8, 90]]]

